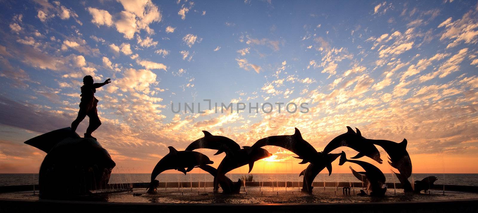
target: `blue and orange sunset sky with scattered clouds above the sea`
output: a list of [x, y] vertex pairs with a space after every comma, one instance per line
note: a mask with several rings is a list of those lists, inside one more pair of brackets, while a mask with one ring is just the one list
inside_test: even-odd
[[[406, 138], [415, 173], [478, 171], [477, 1], [1, 4], [1, 173], [38, 171], [45, 153], [23, 141], [70, 126], [85, 75], [111, 78], [96, 93], [103, 125], [93, 135], [134, 172], [151, 172], [167, 146], [185, 149], [201, 130], [246, 146], [297, 127], [320, 151], [346, 126], [367, 138]], [[306, 102], [310, 110], [197, 113], [204, 99]], [[175, 114], [172, 103], [196, 111]], [[252, 173], [306, 166], [266, 148], [274, 155]], [[224, 157], [199, 151], [214, 166]], [[337, 163], [335, 172], [349, 172]], [[386, 164], [378, 166], [389, 172]]]

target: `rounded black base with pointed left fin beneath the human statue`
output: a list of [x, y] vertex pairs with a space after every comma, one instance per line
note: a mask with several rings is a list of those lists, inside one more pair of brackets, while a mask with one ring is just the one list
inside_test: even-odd
[[94, 138], [81, 138], [71, 128], [57, 129], [25, 141], [47, 153], [39, 172], [40, 198], [71, 199], [106, 189], [116, 166]]

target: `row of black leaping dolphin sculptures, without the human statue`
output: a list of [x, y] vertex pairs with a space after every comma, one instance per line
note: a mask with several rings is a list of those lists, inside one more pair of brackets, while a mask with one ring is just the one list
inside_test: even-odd
[[[319, 172], [326, 168], [330, 175], [332, 173], [332, 162], [340, 157], [339, 165], [350, 162], [359, 165], [365, 170], [357, 172], [351, 166], [349, 167], [354, 176], [368, 186], [367, 188], [370, 192], [370, 196], [380, 197], [385, 195], [385, 192], [387, 191], [385, 175], [379, 168], [369, 162], [349, 160], [344, 151], [335, 154], [330, 153], [342, 146], [349, 147], [359, 152], [351, 159], [359, 159], [366, 156], [380, 164], [382, 163], [380, 152], [375, 145], [382, 147], [390, 156], [389, 164], [399, 171], [399, 173], [395, 173], [395, 175], [401, 182], [405, 192], [419, 193], [422, 190], [425, 190], [426, 192], [426, 190], [433, 185], [433, 182], [436, 181], [435, 177], [427, 177], [422, 181], [415, 181], [417, 186], [415, 187], [415, 190], [413, 190], [412, 184], [408, 181], [408, 178], [412, 174], [412, 161], [406, 150], [406, 139], [403, 139], [401, 143], [395, 143], [390, 140], [368, 139], [362, 136], [358, 128], [356, 128], [357, 132], [350, 127], [347, 127], [347, 129], [348, 131], [346, 133], [332, 139], [321, 152], [317, 152], [311, 144], [304, 140], [297, 128], [295, 128], [293, 135], [279, 135], [262, 138], [251, 147], [243, 146], [242, 149], [239, 144], [230, 138], [214, 136], [207, 131], [203, 131], [204, 137], [192, 142], [185, 151], [176, 151], [173, 147], [169, 147], [170, 150], [174, 150], [174, 153], [182, 152], [183, 157], [177, 161], [164, 160], [170, 159], [169, 155], [172, 153], [172, 151], [170, 151], [168, 155], [158, 162], [151, 174], [151, 183], [148, 193], [154, 193], [156, 191], [159, 181], [155, 179], [162, 171], [174, 169], [186, 174], [186, 172], [192, 170], [193, 167], [203, 169], [214, 176], [214, 192], [217, 192], [218, 186], [220, 186], [224, 193], [239, 193], [241, 180], [239, 179], [238, 182], [234, 183], [226, 177], [226, 173], [248, 164], [250, 172], [255, 161], [272, 156], [272, 154], [266, 149], [261, 148], [264, 146], [277, 146], [288, 149], [298, 156], [295, 158], [302, 160], [300, 164], [309, 163], [307, 168], [299, 174], [299, 176], [304, 175], [302, 187], [303, 192], [311, 193], [314, 188], [312, 183]], [[206, 165], [212, 164], [213, 162], [205, 155], [193, 151], [195, 149], [215, 149], [217, 152], [214, 155], [225, 152], [226, 157], [224, 157], [217, 169], [215, 169]], [[185, 162], [185, 159], [190, 160], [189, 164]], [[187, 170], [185, 168], [187, 168]], [[359, 195], [367, 195], [367, 193], [360, 192]]]

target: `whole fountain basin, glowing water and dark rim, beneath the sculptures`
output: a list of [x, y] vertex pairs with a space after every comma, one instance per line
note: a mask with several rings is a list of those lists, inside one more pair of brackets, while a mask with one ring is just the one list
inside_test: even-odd
[[[206, 183], [206, 187], [204, 187]], [[33, 191], [14, 191], [14, 187], [0, 187], [0, 212], [41, 212], [52, 208], [68, 209], [72, 212], [161, 212], [178, 211], [228, 211], [228, 212], [473, 212], [478, 211], [478, 187], [445, 185], [435, 186], [430, 193], [405, 194], [402, 189], [389, 188], [382, 198], [356, 196], [360, 187], [351, 187], [351, 195], [342, 194], [337, 183], [315, 183], [314, 193], [301, 193], [295, 182], [294, 187], [285, 188], [285, 183], [273, 183], [273, 188], [264, 183], [247, 182], [240, 194], [212, 192], [211, 182], [171, 182], [166, 188], [158, 188], [157, 194], [146, 194], [143, 185], [133, 183], [132, 192], [98, 194], [76, 201], [55, 201], [38, 199]], [[349, 183], [338, 183], [339, 186]], [[350, 183], [352, 184], [352, 183]], [[179, 188], [178, 188], [179, 185]], [[183, 185], [183, 187], [181, 187]], [[257, 186], [254, 186], [257, 185]], [[319, 187], [322, 185], [322, 187]], [[357, 186], [356, 183], [353, 183]], [[160, 185], [164, 186], [164, 185]], [[197, 187], [199, 186], [199, 187]], [[301, 184], [302, 186], [302, 184]], [[24, 186], [22, 186], [24, 187]], [[17, 187], [17, 188], [22, 188]], [[32, 187], [31, 185], [29, 187]], [[461, 190], [460, 190], [461, 189]], [[10, 191], [10, 192], [7, 192]], [[133, 194], [140, 196], [133, 196]]]

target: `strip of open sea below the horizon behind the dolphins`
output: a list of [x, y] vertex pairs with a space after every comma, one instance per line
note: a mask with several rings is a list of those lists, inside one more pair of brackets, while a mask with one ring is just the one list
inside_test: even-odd
[[[232, 181], [237, 181], [239, 178], [252, 175], [253, 181], [302, 181], [302, 177], [299, 177], [297, 173], [273, 173], [273, 174], [238, 174], [231, 173], [227, 176]], [[478, 186], [478, 174], [427, 174], [416, 173], [410, 177], [410, 182], [422, 180], [428, 176], [435, 176], [438, 178], [435, 181], [437, 185], [467, 185]], [[135, 182], [150, 182], [151, 174], [149, 173], [112, 173], [109, 179], [109, 183], [135, 183]], [[385, 174], [387, 182], [399, 182], [397, 178], [391, 173]], [[161, 173], [156, 177], [156, 180], [160, 182], [209, 182], [213, 181], [213, 176], [209, 173]], [[350, 173], [332, 173], [319, 174], [314, 180], [315, 182], [359, 182], [357, 178]], [[0, 186], [11, 185], [32, 185], [38, 184], [38, 174], [0, 174]]]

